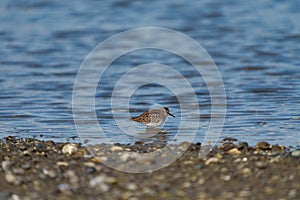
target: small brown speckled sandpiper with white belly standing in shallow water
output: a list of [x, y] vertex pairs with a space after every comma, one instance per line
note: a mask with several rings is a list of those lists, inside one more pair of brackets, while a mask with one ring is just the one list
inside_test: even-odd
[[150, 109], [137, 117], [131, 118], [132, 121], [139, 122], [145, 124], [146, 126], [160, 126], [165, 121], [168, 115], [175, 118], [169, 111], [169, 108], [162, 107], [160, 109]]

